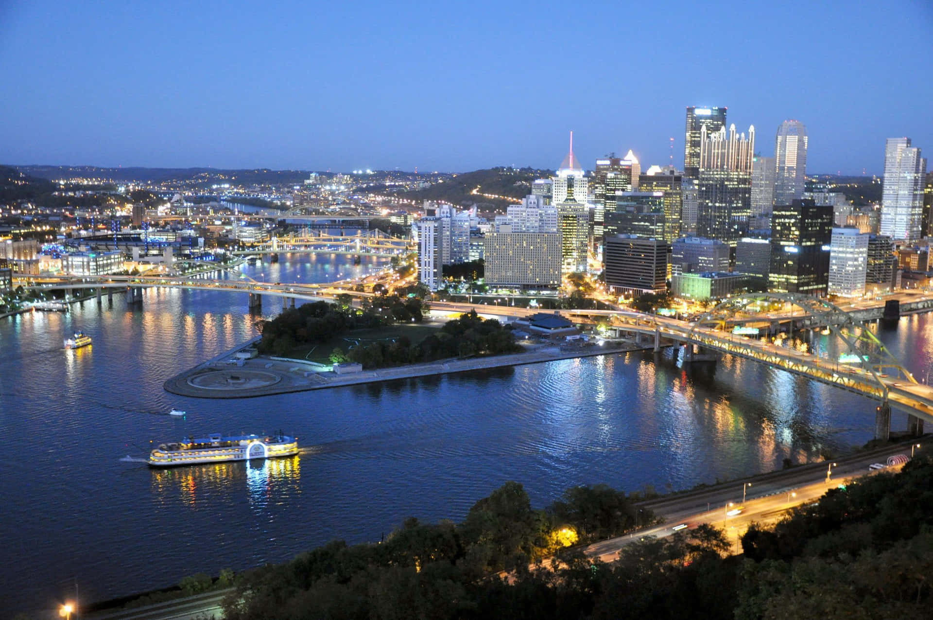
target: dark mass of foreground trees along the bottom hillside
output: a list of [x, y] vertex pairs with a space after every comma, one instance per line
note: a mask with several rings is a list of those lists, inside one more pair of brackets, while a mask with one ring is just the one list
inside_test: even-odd
[[535, 511], [522, 486], [507, 483], [462, 523], [410, 519], [380, 544], [331, 542], [245, 573], [225, 617], [929, 617], [929, 458], [831, 489], [773, 528], [753, 525], [741, 556], [727, 556], [723, 532], [707, 525], [635, 541], [610, 563], [565, 546], [566, 532], [584, 542], [628, 531], [635, 510], [632, 496], [578, 486]]

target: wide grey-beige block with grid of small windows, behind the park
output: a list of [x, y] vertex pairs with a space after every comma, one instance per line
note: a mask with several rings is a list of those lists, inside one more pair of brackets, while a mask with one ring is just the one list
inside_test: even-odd
[[523, 289], [556, 289], [561, 284], [560, 233], [513, 233], [508, 224], [501, 232], [486, 233], [486, 283]]

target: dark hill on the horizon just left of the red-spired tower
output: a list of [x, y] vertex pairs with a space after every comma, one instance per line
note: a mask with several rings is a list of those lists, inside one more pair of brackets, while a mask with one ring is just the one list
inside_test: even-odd
[[[443, 183], [399, 195], [416, 202], [436, 200], [450, 204], [486, 203], [502, 206], [521, 202], [523, 197], [531, 193], [532, 181], [548, 178], [551, 174], [550, 170], [535, 168], [487, 168], [453, 175]], [[474, 190], [477, 193], [473, 193]]]

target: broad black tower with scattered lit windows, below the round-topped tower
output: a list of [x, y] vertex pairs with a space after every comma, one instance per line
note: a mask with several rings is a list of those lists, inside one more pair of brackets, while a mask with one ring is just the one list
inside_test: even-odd
[[795, 200], [792, 204], [774, 205], [771, 222], [769, 289], [826, 293], [832, 209], [816, 206], [812, 200]]

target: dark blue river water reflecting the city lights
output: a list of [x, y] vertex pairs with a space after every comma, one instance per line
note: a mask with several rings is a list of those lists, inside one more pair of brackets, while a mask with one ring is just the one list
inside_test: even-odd
[[[244, 266], [270, 281], [378, 269], [335, 256]], [[237, 277], [232, 274], [230, 277]], [[272, 316], [281, 306], [265, 298]], [[507, 480], [543, 506], [564, 488], [683, 489], [840, 453], [871, 439], [874, 403], [753, 362], [681, 369], [637, 352], [244, 400], [162, 382], [257, 333], [242, 293], [146, 290], [68, 314], [0, 320], [0, 609], [100, 600], [279, 562], [333, 539], [378, 541], [410, 515], [460, 519]], [[77, 329], [93, 345], [64, 351]], [[933, 319], [880, 335], [917, 376]], [[167, 416], [173, 407], [185, 418]], [[895, 415], [895, 429], [906, 417]], [[309, 452], [166, 471], [121, 462], [149, 442], [282, 429]]]

